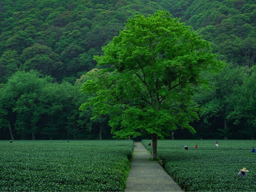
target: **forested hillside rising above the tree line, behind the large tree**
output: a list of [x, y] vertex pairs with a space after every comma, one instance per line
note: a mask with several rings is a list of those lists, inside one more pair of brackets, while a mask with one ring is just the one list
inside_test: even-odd
[[[38, 60], [38, 65], [43, 62], [50, 65], [50, 68], [58, 67], [61, 73], [50, 73], [58, 80], [90, 70], [92, 66], [88, 67], [90, 64], [87, 62], [80, 63], [78, 58], [81, 54], [88, 53], [91, 48], [95, 48], [96, 54], [99, 54], [101, 46], [106, 45], [124, 28], [127, 18], [134, 17], [135, 14], [147, 16], [159, 9], [170, 12], [174, 17], [180, 17], [181, 21], [199, 30], [199, 34], [204, 35], [206, 40], [218, 45], [214, 51], [228, 61], [252, 66], [255, 60], [255, 46], [248, 47], [242, 43], [247, 38], [255, 41], [253, 1], [19, 0], [15, 3], [3, 1], [1, 7], [0, 55], [13, 50], [21, 57], [26, 48], [40, 43], [50, 48], [58, 57], [52, 61], [50, 56], [48, 61], [40, 53], [41, 56], [33, 56], [33, 61], [33, 57], [23, 57], [22, 64], [26, 63], [28, 70], [33, 69], [33, 63]], [[214, 26], [210, 34], [207, 30], [209, 26]], [[220, 38], [223, 34], [228, 35], [224, 41]], [[49, 74], [47, 70], [41, 72]], [[8, 71], [3, 76], [8, 77]]]

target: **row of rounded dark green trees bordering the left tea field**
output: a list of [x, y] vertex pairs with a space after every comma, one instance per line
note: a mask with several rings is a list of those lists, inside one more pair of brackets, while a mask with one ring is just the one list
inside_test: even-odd
[[1, 127], [9, 127], [15, 139], [86, 138], [90, 114], [78, 110], [87, 97], [79, 90], [80, 85], [52, 83], [37, 71], [16, 72], [0, 90]]

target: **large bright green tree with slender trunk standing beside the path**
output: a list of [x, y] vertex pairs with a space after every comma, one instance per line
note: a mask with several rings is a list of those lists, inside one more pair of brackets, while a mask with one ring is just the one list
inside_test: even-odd
[[194, 87], [203, 83], [202, 71], [223, 66], [209, 42], [178, 18], [158, 11], [128, 19], [126, 29], [102, 50], [104, 55], [95, 59], [111, 70], [98, 72], [97, 89], [90, 80], [82, 91], [94, 90], [90, 104], [98, 114], [109, 113], [116, 137], [146, 132], [152, 137], [152, 159], [157, 159], [157, 138], [178, 128], [195, 132], [189, 125], [198, 118], [191, 102]]

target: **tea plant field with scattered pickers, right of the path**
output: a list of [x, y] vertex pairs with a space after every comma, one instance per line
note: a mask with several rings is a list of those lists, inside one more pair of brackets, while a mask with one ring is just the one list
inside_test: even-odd
[[[147, 146], [150, 140], [142, 141]], [[256, 191], [255, 140], [159, 140], [165, 171], [184, 191]], [[189, 150], [185, 151], [184, 146]], [[198, 145], [198, 149], [194, 146]], [[247, 178], [238, 176], [247, 168]]]

